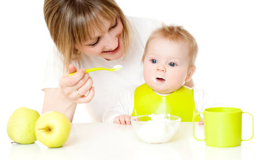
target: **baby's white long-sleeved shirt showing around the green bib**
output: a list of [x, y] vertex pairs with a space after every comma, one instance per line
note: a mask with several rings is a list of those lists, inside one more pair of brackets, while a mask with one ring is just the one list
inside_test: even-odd
[[[110, 122], [114, 121], [114, 118], [119, 115], [131, 115], [134, 110], [134, 91], [138, 87], [138, 85], [131, 85], [127, 87], [122, 93], [120, 94], [117, 102], [109, 108], [103, 114], [103, 122]], [[195, 102], [195, 107], [197, 112], [203, 112], [206, 108], [212, 107], [225, 107], [224, 104], [216, 102], [215, 99], [212, 99], [204, 90], [198, 89], [196, 87], [192, 87], [193, 89], [193, 99]], [[157, 93], [161, 96], [167, 96], [169, 94], [161, 94]], [[203, 118], [203, 114], [199, 115]]]

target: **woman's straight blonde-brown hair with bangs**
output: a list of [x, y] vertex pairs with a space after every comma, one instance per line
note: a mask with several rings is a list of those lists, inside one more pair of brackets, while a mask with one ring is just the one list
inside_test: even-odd
[[45, 0], [44, 18], [51, 38], [64, 56], [64, 71], [72, 60], [81, 57], [74, 44], [91, 39], [95, 30], [102, 32], [102, 18], [122, 21], [124, 54], [129, 48], [130, 24], [114, 0]]

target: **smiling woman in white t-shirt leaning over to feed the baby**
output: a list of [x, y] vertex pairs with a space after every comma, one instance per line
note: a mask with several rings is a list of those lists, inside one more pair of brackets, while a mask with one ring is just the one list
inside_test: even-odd
[[[93, 122], [102, 122], [104, 111], [126, 86], [144, 83], [145, 43], [161, 23], [125, 17], [114, 0], [45, 0], [44, 17], [55, 47], [46, 65], [42, 113], [55, 110], [72, 122], [81, 103]], [[85, 69], [118, 64], [120, 71], [84, 74]]]

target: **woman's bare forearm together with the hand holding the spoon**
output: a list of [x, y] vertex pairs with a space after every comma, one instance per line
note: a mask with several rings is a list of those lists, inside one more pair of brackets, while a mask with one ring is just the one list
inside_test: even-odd
[[[79, 69], [71, 77], [69, 73], [77, 71], [74, 65], [69, 65], [68, 72], [60, 78], [60, 88], [46, 88], [42, 114], [57, 111], [73, 121], [73, 115], [78, 103], [89, 103], [94, 96], [93, 81], [85, 69]], [[86, 96], [85, 94], [89, 92]]]

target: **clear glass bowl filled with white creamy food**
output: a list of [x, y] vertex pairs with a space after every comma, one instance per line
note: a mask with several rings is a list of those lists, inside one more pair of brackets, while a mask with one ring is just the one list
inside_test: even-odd
[[170, 114], [149, 114], [131, 118], [136, 135], [146, 143], [166, 143], [175, 134], [181, 118]]

